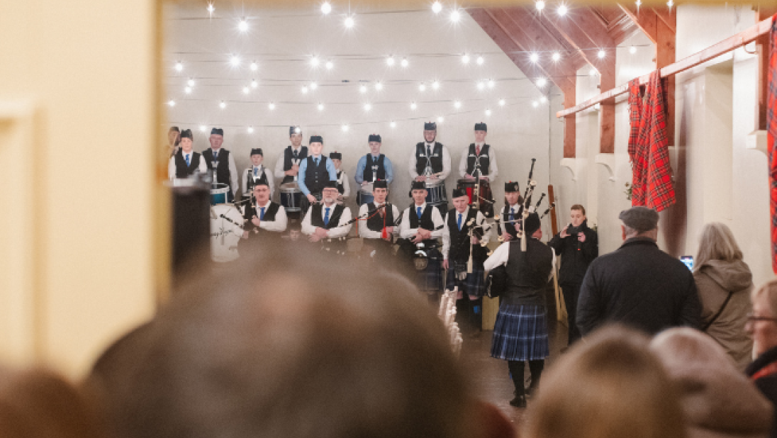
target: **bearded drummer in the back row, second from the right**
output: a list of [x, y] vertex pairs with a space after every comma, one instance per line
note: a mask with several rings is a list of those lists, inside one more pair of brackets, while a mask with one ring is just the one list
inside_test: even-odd
[[445, 214], [448, 211], [445, 179], [451, 173], [451, 154], [448, 148], [436, 141], [437, 123], [423, 124], [423, 139], [416, 144], [410, 158], [410, 178], [426, 183], [427, 203], [438, 207], [440, 213]]

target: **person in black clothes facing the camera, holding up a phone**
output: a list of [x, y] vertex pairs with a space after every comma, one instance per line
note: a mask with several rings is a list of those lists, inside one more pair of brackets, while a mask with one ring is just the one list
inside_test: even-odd
[[599, 255], [599, 239], [596, 231], [588, 228], [585, 207], [575, 204], [570, 210], [572, 221], [559, 234], [550, 239], [548, 245], [561, 255], [559, 285], [564, 294], [566, 305], [568, 344], [580, 339], [577, 329], [577, 297], [580, 296], [580, 284], [588, 265]]

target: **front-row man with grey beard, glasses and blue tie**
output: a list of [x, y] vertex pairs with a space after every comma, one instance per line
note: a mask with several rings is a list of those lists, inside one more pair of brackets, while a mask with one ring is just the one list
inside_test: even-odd
[[[310, 144], [315, 144], [312, 140]], [[312, 150], [312, 148], [311, 148]], [[345, 253], [345, 242], [331, 245], [330, 239], [344, 238], [350, 232], [353, 224], [347, 224], [351, 220], [350, 208], [337, 201], [337, 182], [332, 179], [324, 184], [322, 189], [322, 202], [313, 203], [302, 220], [302, 234], [310, 236], [310, 242], [327, 241], [327, 248], [336, 252]], [[346, 225], [347, 224], [347, 225]]]

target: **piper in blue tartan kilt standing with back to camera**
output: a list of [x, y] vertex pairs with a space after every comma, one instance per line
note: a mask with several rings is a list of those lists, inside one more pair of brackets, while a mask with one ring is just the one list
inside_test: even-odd
[[505, 242], [484, 263], [486, 270], [503, 264], [507, 267], [507, 288], [493, 328], [491, 356], [507, 360], [515, 385], [515, 398], [510, 405], [518, 408], [526, 406], [524, 362], [528, 361], [531, 372], [529, 391], [534, 391], [545, 367], [545, 357], [550, 353], [545, 287], [552, 275], [556, 254], [539, 241], [540, 224], [538, 214], [529, 214], [524, 220], [525, 249], [521, 249], [523, 238]]

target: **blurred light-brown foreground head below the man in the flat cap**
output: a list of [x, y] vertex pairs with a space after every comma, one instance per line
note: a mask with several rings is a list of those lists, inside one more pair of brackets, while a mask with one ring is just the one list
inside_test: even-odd
[[678, 396], [648, 339], [622, 326], [578, 342], [542, 377], [528, 438], [682, 438]]

